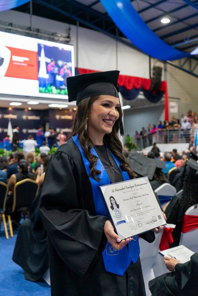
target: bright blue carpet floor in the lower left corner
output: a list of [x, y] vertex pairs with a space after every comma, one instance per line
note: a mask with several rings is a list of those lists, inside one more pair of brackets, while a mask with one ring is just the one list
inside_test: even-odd
[[3, 222], [0, 232], [0, 294], [4, 296], [50, 296], [50, 286], [45, 281], [37, 283], [24, 278], [23, 269], [12, 261], [12, 253], [17, 237], [6, 239]]

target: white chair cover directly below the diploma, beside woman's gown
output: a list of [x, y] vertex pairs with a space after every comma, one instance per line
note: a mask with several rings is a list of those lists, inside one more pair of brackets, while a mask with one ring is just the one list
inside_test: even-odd
[[155, 235], [155, 240], [151, 244], [146, 242], [144, 239], [139, 238], [139, 244], [140, 244], [140, 260], [142, 265], [142, 273], [144, 277], [144, 283], [145, 283], [145, 289], [146, 289], [146, 295], [150, 296], [151, 292], [148, 288], [148, 282], [151, 279], [155, 278], [154, 272], [153, 272], [153, 266], [155, 265], [156, 256], [158, 254], [159, 250], [159, 244], [161, 241], [162, 233]]

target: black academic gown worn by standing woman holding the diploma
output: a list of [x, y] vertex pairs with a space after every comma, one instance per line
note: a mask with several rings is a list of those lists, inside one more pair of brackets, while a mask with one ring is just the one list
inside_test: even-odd
[[[96, 215], [91, 183], [72, 139], [50, 158], [40, 198], [48, 234], [52, 296], [145, 296], [140, 258], [123, 276], [107, 272], [107, 217]], [[142, 235], [152, 242], [154, 233]]]

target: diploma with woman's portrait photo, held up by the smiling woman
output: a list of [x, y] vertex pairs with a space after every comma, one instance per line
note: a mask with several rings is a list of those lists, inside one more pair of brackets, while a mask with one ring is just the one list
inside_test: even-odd
[[99, 186], [99, 189], [121, 239], [166, 225], [147, 177]]

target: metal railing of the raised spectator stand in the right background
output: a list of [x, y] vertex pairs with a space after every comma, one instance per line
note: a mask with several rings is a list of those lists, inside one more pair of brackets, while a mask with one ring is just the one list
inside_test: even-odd
[[153, 143], [189, 143], [191, 136], [191, 130], [182, 130], [180, 128], [160, 129], [156, 133], [140, 136], [139, 139], [135, 139], [135, 142], [141, 149], [143, 149], [153, 145]]

